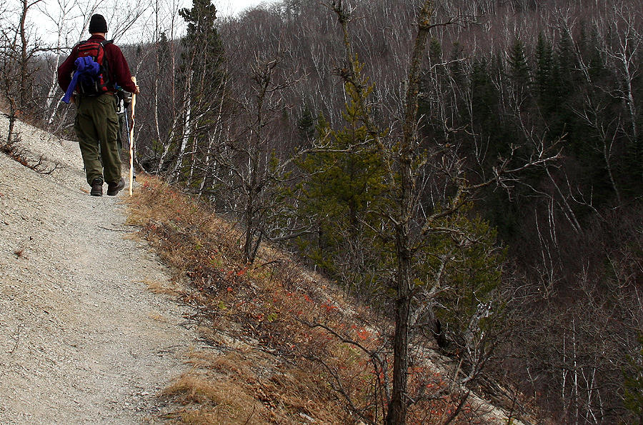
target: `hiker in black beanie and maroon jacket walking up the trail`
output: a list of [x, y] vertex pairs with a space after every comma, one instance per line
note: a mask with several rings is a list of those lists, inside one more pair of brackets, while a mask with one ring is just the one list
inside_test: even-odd
[[116, 106], [119, 99], [115, 96], [115, 86], [139, 93], [139, 86], [131, 80], [123, 52], [112, 41], [106, 41], [106, 33], [105, 18], [92, 15], [89, 20], [91, 37], [76, 44], [58, 67], [58, 84], [65, 91], [63, 101], [76, 104], [74, 129], [91, 196], [103, 196], [105, 182], [109, 196], [118, 194], [125, 187], [117, 142], [120, 128]]

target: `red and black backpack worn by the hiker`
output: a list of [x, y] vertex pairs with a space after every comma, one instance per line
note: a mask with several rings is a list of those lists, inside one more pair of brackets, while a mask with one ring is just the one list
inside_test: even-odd
[[[107, 55], [105, 46], [112, 41], [81, 41], [76, 46], [76, 61], [83, 59], [86, 64], [95, 62], [95, 72], [84, 72], [79, 76], [76, 91], [85, 96], [99, 96], [106, 91], [114, 90], [114, 84], [109, 76], [109, 66], [107, 64]], [[79, 62], [76, 62], [78, 66]], [[78, 71], [76, 71], [78, 72]]]

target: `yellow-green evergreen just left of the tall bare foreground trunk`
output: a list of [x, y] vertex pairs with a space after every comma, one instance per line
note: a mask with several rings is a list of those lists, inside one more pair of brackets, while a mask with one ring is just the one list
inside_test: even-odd
[[[370, 86], [368, 93], [372, 93]], [[367, 128], [359, 122], [357, 93], [346, 105], [346, 125], [334, 131], [318, 119], [324, 149], [307, 155], [299, 166], [310, 177], [301, 185], [299, 214], [314, 222], [313, 238], [300, 239], [302, 251], [317, 266], [342, 281], [357, 295], [372, 291], [377, 271], [385, 262], [379, 244], [377, 211], [384, 202], [384, 166], [376, 146], [368, 143]], [[359, 256], [359, 261], [356, 260]]]

